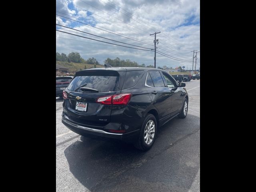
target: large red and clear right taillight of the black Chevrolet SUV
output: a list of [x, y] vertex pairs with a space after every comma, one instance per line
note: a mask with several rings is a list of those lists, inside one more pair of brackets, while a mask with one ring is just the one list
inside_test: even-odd
[[105, 105], [127, 105], [132, 97], [131, 93], [99, 97], [96, 102]]

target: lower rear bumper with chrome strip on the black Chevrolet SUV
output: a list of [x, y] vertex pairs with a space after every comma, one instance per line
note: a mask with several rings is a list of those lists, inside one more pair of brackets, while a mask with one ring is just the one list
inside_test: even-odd
[[90, 128], [90, 126], [78, 125], [76, 122], [71, 121], [66, 115], [62, 116], [62, 123], [73, 132], [82, 136], [95, 135], [100, 137], [124, 140], [127, 142], [130, 142], [134, 140], [134, 138], [138, 137], [138, 134], [140, 131], [140, 130], [135, 130], [127, 133], [110, 133], [104, 130]]

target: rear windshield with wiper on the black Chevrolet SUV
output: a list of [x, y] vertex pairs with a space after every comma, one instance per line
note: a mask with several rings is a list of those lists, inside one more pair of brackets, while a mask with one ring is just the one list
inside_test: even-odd
[[116, 74], [95, 74], [94, 72], [84, 76], [76, 76], [69, 84], [68, 90], [82, 92], [78, 87], [96, 89], [99, 92], [116, 91], [119, 81], [119, 75]]

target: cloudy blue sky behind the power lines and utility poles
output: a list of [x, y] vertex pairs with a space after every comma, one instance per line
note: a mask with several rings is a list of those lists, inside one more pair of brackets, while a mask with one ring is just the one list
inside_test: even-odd
[[[191, 50], [200, 50], [199, 0], [56, 0], [56, 14], [61, 15], [56, 15], [56, 24], [144, 48], [154, 48], [153, 36], [149, 34], [161, 31], [157, 34], [159, 39], [157, 51], [178, 58], [179, 61], [157, 54], [156, 66], [188, 65], [189, 69], [192, 67]], [[64, 32], [102, 40], [84, 33], [75, 33], [76, 31], [64, 27], [56, 27], [62, 28], [58, 30]], [[130, 59], [139, 64], [154, 64], [154, 52], [122, 48], [62, 32], [56, 32], [56, 52], [65, 54], [79, 52], [82, 58], [94, 57], [100, 64], [104, 64], [104, 60], [108, 57]], [[198, 53], [198, 61], [197, 66], [200, 67], [200, 53]]]

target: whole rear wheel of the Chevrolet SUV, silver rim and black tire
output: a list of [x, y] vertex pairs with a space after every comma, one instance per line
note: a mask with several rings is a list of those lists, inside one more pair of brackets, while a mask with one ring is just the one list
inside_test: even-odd
[[148, 114], [140, 129], [140, 135], [138, 140], [134, 143], [134, 146], [139, 150], [149, 150], [156, 139], [157, 122], [156, 118], [152, 114]]

